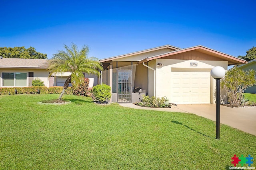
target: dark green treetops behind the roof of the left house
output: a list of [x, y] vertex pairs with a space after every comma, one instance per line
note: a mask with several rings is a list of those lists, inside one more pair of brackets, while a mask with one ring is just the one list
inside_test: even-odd
[[47, 59], [47, 54], [39, 53], [34, 47], [0, 47], [0, 56], [19, 59]]

